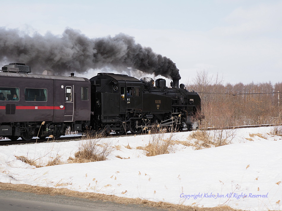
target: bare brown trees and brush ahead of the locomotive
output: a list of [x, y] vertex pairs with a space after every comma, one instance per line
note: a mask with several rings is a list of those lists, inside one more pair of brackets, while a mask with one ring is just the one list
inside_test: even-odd
[[281, 123], [281, 82], [224, 84], [223, 76], [199, 70], [186, 88], [201, 97], [204, 127]]

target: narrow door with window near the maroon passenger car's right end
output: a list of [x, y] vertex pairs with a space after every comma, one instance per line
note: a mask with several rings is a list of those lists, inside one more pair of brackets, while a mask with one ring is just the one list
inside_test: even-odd
[[74, 94], [73, 94], [73, 84], [65, 85], [65, 114], [64, 122], [72, 122], [73, 112], [74, 112]]

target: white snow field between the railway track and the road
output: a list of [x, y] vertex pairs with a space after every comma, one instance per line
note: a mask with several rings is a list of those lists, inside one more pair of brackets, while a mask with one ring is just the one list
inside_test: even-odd
[[[0, 182], [199, 207], [281, 210], [282, 137], [271, 135], [272, 129], [224, 130], [234, 136], [228, 145], [200, 150], [192, 146], [197, 140], [188, 138], [193, 132], [179, 132], [172, 136], [170, 154], [152, 157], [139, 147], [147, 146], [154, 135], [104, 138], [100, 144], [110, 142], [114, 151], [106, 161], [89, 163], [68, 163], [83, 140], [0, 146]], [[210, 133], [216, 136], [215, 131]], [[191, 146], [180, 144], [183, 141]], [[57, 155], [65, 164], [45, 166]], [[45, 167], [35, 168], [15, 156]]]

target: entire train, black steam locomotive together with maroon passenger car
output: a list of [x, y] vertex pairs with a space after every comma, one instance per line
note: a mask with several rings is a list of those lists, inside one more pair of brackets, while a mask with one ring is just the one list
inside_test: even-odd
[[178, 80], [171, 87], [164, 79], [114, 73], [89, 80], [31, 74], [29, 66], [10, 63], [0, 72], [0, 136], [58, 138], [67, 129], [139, 134], [154, 125], [191, 130], [203, 117], [200, 97]]

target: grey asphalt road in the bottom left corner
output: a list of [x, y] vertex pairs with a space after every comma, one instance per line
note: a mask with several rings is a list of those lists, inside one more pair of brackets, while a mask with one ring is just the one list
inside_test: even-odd
[[[0, 211], [162, 211], [135, 204], [0, 190]], [[163, 210], [164, 211], [164, 210]]]

